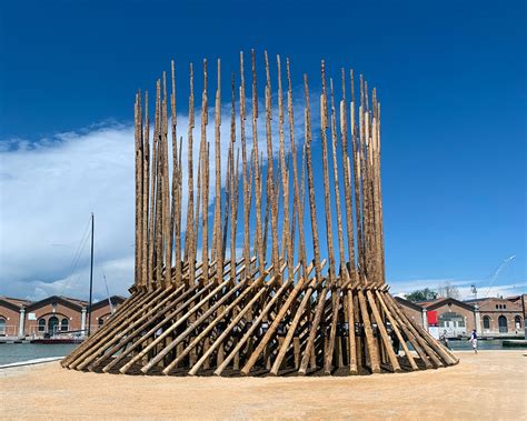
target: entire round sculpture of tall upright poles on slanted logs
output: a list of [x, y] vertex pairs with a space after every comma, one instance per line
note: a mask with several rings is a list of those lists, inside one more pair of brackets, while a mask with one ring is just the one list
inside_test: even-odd
[[[131, 297], [62, 360], [63, 367], [130, 374], [302, 375], [412, 371], [458, 362], [405, 314], [385, 282], [376, 90], [369, 92], [360, 77], [357, 103], [354, 72], [347, 80], [342, 69], [337, 108], [334, 80], [328, 86], [322, 61], [318, 117], [311, 114], [305, 76], [304, 131], [298, 130], [289, 60], [286, 99], [280, 57], [276, 64], [274, 94], [266, 52], [260, 103], [252, 51], [249, 132], [240, 53], [238, 90], [231, 77], [230, 138], [222, 139], [218, 60], [212, 140], [207, 138], [210, 82], [203, 61], [197, 163], [192, 64], [186, 151], [177, 132], [175, 63], [170, 98], [166, 74], [157, 81], [151, 141], [148, 93], [143, 101], [137, 93]], [[261, 143], [259, 123], [265, 127]], [[228, 144], [225, 169], [222, 144]], [[320, 161], [324, 180], [316, 182], [314, 167]]]

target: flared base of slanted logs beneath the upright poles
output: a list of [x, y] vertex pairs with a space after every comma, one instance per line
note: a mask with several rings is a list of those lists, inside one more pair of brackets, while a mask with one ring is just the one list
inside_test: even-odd
[[[309, 281], [281, 284], [251, 279], [138, 289], [61, 364], [130, 375], [317, 377], [406, 372], [458, 362], [405, 314], [386, 287], [327, 290], [325, 282]], [[329, 292], [321, 295], [322, 291]], [[309, 308], [301, 305], [306, 294]], [[361, 305], [350, 312], [347, 303], [356, 297]], [[316, 367], [298, 364], [312, 355]]]

